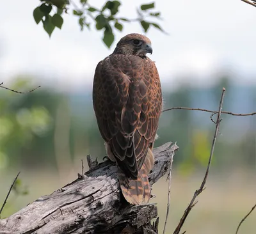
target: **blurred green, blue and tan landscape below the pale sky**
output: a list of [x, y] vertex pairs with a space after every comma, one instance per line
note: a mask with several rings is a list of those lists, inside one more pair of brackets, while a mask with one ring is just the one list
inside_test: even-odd
[[[31, 79], [17, 77], [10, 88], [28, 90]], [[170, 93], [163, 88], [165, 107], [216, 110], [223, 86], [227, 89], [225, 111], [255, 111], [256, 87], [233, 86], [227, 76], [207, 89], [182, 85]], [[76, 179], [77, 173], [81, 173], [81, 159], [86, 160], [87, 154], [98, 157], [99, 161], [106, 155], [93, 113], [91, 90], [61, 93], [40, 88], [19, 95], [1, 89], [0, 107], [1, 201], [15, 174], [21, 171], [19, 196], [17, 192], [12, 193], [2, 217]], [[156, 146], [166, 141], [177, 141], [180, 146], [173, 162], [170, 228], [179, 221], [203, 178], [215, 128], [210, 116], [210, 113], [182, 110], [168, 111], [161, 116]], [[219, 233], [231, 233], [255, 202], [255, 116], [223, 114], [222, 118], [207, 189], [186, 222], [186, 229], [191, 233], [204, 233], [216, 224], [220, 224]], [[168, 183], [163, 178], [152, 191], [157, 195], [152, 202], [159, 206], [160, 230], [167, 190]], [[200, 225], [195, 225], [198, 222]], [[252, 214], [243, 228], [246, 233], [253, 233], [254, 225], [255, 214]]]

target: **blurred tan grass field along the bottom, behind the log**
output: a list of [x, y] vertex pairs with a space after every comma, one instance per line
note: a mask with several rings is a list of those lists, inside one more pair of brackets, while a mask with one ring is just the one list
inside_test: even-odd
[[[78, 166], [77, 171], [80, 171]], [[76, 179], [77, 171], [72, 171], [61, 180], [58, 174], [54, 174], [52, 171], [22, 172], [20, 179], [24, 185], [28, 185], [29, 194], [18, 198], [12, 194], [2, 217], [8, 217], [40, 196], [49, 194]], [[3, 171], [0, 172], [0, 203], [3, 202], [15, 174], [14, 171], [9, 171], [7, 174]], [[203, 173], [186, 176], [173, 173], [170, 214], [166, 233], [173, 233], [195, 189], [200, 187], [202, 178]], [[152, 194], [155, 194], [156, 198], [150, 201], [157, 203], [160, 217], [159, 233], [163, 232], [166, 215], [168, 182], [165, 180], [166, 178], [162, 178], [154, 185]], [[236, 233], [239, 221], [256, 203], [255, 182], [255, 171], [236, 170], [232, 173], [219, 173], [217, 169], [212, 168], [207, 181], [207, 189], [198, 197], [198, 203], [189, 214], [183, 231], [187, 230], [188, 234]], [[239, 233], [256, 233], [256, 210], [246, 219]]]

